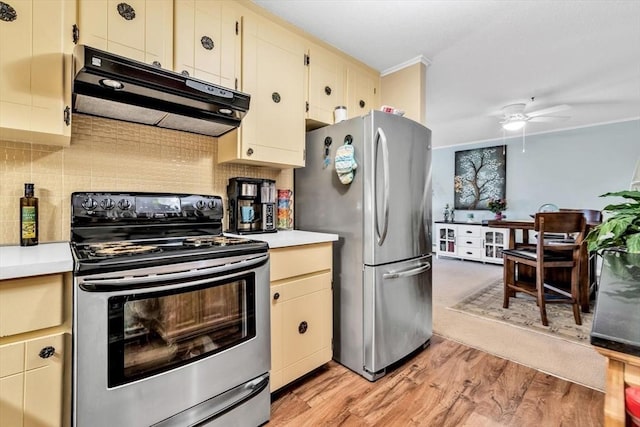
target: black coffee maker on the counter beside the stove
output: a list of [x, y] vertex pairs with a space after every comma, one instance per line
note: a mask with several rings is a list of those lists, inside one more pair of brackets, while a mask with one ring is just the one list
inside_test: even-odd
[[275, 233], [276, 182], [261, 178], [231, 178], [227, 185], [229, 232]]

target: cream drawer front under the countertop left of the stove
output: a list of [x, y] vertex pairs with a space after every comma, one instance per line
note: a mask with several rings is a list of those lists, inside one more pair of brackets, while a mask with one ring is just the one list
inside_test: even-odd
[[64, 276], [0, 281], [0, 337], [61, 325]]

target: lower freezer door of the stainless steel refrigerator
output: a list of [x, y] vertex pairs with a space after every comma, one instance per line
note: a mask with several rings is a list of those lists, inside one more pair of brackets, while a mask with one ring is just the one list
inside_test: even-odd
[[369, 379], [431, 339], [431, 276], [431, 255], [365, 266], [364, 370]]

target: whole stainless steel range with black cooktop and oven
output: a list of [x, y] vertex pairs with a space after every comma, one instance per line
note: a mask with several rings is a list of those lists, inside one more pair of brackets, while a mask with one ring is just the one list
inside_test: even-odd
[[269, 255], [218, 196], [73, 193], [73, 424], [269, 420]]

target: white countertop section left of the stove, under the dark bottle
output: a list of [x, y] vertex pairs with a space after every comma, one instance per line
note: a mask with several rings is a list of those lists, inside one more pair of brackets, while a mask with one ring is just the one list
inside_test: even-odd
[[0, 246], [0, 280], [71, 271], [69, 242]]

